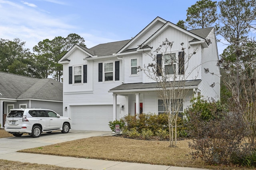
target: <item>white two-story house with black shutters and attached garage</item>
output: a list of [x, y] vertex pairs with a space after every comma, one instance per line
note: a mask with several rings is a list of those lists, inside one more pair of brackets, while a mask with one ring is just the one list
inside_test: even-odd
[[[216, 65], [218, 50], [214, 28], [187, 31], [157, 17], [131, 40], [99, 44], [90, 49], [74, 45], [58, 61], [63, 65], [64, 75], [63, 107], [66, 111], [63, 115], [71, 118], [72, 128], [110, 130], [109, 121], [128, 114], [162, 113], [157, 83], [145, 73], [137, 72], [137, 67], [152, 62], [145, 51], [154, 53], [166, 38], [174, 42], [172, 51], [167, 52], [176, 56], [181, 52], [181, 43], [186, 54], [198, 47], [188, 65], [188, 70], [192, 71], [185, 86], [190, 90], [181, 111], [190, 105], [194, 94], [219, 100], [220, 69]], [[208, 39], [212, 43], [208, 44]], [[205, 68], [214, 75], [205, 73]]]

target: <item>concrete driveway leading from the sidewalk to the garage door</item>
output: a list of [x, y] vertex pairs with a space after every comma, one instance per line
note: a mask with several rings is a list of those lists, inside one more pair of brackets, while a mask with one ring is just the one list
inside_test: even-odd
[[39, 138], [32, 138], [30, 135], [22, 135], [21, 137], [0, 138], [0, 154], [16, 152], [22, 149], [46, 146], [50, 144], [57, 144], [76, 139], [89, 138], [92, 136], [109, 135], [112, 135], [112, 132], [70, 130], [68, 133], [42, 133]]

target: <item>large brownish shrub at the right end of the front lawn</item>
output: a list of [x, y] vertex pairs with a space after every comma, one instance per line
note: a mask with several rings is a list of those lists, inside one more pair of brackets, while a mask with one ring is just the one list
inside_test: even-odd
[[219, 102], [198, 101], [186, 111], [190, 134], [194, 136], [189, 147], [196, 150], [190, 154], [210, 164], [227, 164], [248, 134], [246, 125], [241, 116], [227, 114]]

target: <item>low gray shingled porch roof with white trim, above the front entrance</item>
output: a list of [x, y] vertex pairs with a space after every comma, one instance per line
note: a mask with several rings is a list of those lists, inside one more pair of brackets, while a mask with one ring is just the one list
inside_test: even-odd
[[[166, 87], [179, 87], [182, 86], [185, 89], [198, 87], [202, 80], [186, 80], [166, 83]], [[174, 85], [173, 85], [174, 83]], [[161, 88], [158, 83], [126, 83], [114, 87], [109, 92], [126, 92], [126, 91], [154, 91]]]

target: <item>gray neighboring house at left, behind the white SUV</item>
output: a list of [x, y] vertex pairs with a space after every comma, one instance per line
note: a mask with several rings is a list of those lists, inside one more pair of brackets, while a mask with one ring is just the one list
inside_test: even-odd
[[10, 109], [51, 109], [63, 115], [63, 85], [54, 79], [37, 79], [0, 71], [0, 124]]

